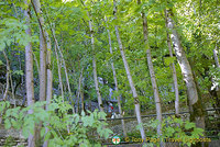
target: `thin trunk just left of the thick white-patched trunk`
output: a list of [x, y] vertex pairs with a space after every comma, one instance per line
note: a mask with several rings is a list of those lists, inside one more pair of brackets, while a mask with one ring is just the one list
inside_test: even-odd
[[[166, 21], [166, 27], [167, 27], [167, 16], [165, 16], [165, 21]], [[169, 38], [169, 34], [168, 31], [166, 31], [166, 37], [167, 37], [167, 45], [168, 45], [168, 50], [169, 50], [169, 56], [173, 57], [173, 50], [172, 50], [172, 44], [170, 44], [170, 38]], [[174, 61], [172, 61], [172, 64], [169, 65], [170, 69], [172, 69], [172, 74], [173, 74], [173, 79], [174, 79], [174, 90], [175, 90], [175, 112], [176, 115], [179, 115], [179, 92], [178, 92], [178, 81], [177, 81], [177, 76], [176, 76], [176, 68], [174, 65]]]

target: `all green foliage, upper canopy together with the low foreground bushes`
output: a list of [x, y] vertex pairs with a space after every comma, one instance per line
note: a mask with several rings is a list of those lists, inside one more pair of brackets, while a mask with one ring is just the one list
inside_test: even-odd
[[[26, 1], [31, 3], [31, 0]], [[162, 100], [162, 110], [163, 112], [174, 110], [173, 103], [167, 106], [168, 102], [175, 101], [169, 67], [173, 61], [177, 71], [180, 108], [185, 110], [188, 104], [187, 92], [178, 61], [175, 56], [169, 57], [166, 32], [170, 33], [170, 31], [165, 25], [165, 9], [173, 9], [173, 20], [177, 24], [176, 29], [190, 63], [202, 105], [205, 108], [220, 106], [218, 97], [211, 93], [220, 82], [219, 68], [215, 65], [213, 58], [213, 49], [220, 52], [218, 48], [220, 44], [220, 3], [218, 0], [143, 0], [141, 4], [138, 4], [136, 0], [119, 0], [117, 3], [117, 20], [113, 15], [112, 0], [86, 0], [84, 3], [81, 0], [66, 0], [65, 2], [63, 0], [42, 0], [41, 4], [42, 15], [45, 20], [43, 27], [52, 39], [53, 93], [61, 95], [52, 29], [55, 30], [55, 36], [64, 55], [73, 95], [70, 98], [68, 93], [64, 65], [62, 64], [65, 102], [63, 103], [59, 97], [54, 98], [47, 110], [43, 109], [46, 102], [36, 102], [28, 108], [16, 106], [14, 109], [9, 109], [9, 103], [2, 102], [0, 103], [0, 112], [1, 115], [6, 114], [3, 115], [6, 128], [21, 129], [24, 137], [28, 137], [30, 133], [34, 132], [35, 124], [42, 122], [44, 127], [41, 129], [41, 137], [44, 137], [45, 140], [50, 139], [50, 146], [74, 146], [79, 144], [81, 146], [95, 146], [95, 144], [100, 146], [99, 140], [94, 140], [89, 137], [89, 133], [95, 129], [103, 138], [108, 138], [112, 134], [106, 127], [107, 123], [99, 121], [106, 120], [106, 113], [87, 110], [89, 115], [86, 115], [80, 104], [85, 103], [89, 108], [91, 102], [97, 102], [92, 77], [94, 54], [97, 61], [98, 77], [103, 81], [99, 84], [103, 101], [109, 101], [109, 95], [111, 94], [109, 89], [116, 89], [111, 69], [111, 63], [113, 63], [119, 91], [113, 91], [111, 99], [120, 95], [125, 115], [133, 115], [134, 100], [117, 42], [116, 25], [119, 25], [127, 60], [138, 90], [141, 112], [155, 112], [141, 12], [144, 12], [147, 18], [148, 44]], [[28, 37], [25, 33], [28, 25], [24, 10], [28, 7], [31, 9], [31, 37]], [[90, 16], [88, 16], [88, 13]], [[10, 60], [11, 71], [9, 72], [12, 74], [13, 80], [10, 83], [12, 86], [10, 86], [9, 91], [12, 91], [13, 87], [15, 95], [25, 95], [24, 47], [31, 42], [34, 55], [34, 98], [36, 101], [40, 92], [40, 75], [37, 71], [40, 63], [40, 29], [37, 19], [33, 5], [26, 5], [22, 0], [2, 0], [0, 2], [0, 83], [6, 86], [7, 61], [3, 54], [1, 54], [4, 50]], [[95, 53], [90, 43], [89, 20], [94, 23]], [[107, 30], [110, 31], [113, 54], [109, 52]], [[61, 58], [61, 55], [58, 57]], [[82, 76], [81, 89], [79, 89], [80, 75]], [[84, 95], [84, 102], [78, 97], [79, 91]], [[73, 109], [73, 104], [78, 108], [78, 114], [67, 114]], [[95, 109], [98, 109], [97, 105]], [[117, 104], [114, 106], [117, 108]], [[30, 109], [34, 113], [29, 114], [28, 111]], [[58, 112], [55, 110], [58, 110]], [[108, 110], [105, 111], [107, 112]], [[80, 112], [81, 114], [79, 114]], [[165, 124], [167, 125], [165, 122], [169, 122], [168, 127], [165, 126]], [[185, 129], [172, 127], [176, 123], [182, 128], [190, 129], [191, 136], [185, 134]], [[152, 129], [155, 129], [156, 122], [144, 125], [147, 125], [145, 126], [147, 128], [153, 127]], [[45, 135], [46, 127], [50, 132]], [[155, 132], [152, 133], [150, 129], [148, 134], [155, 136]], [[201, 135], [201, 129], [196, 128], [194, 123], [187, 121], [167, 118], [163, 122], [163, 135], [164, 138], [178, 138], [179, 136], [183, 138], [197, 138]], [[191, 143], [187, 144], [188, 146], [191, 145]]]

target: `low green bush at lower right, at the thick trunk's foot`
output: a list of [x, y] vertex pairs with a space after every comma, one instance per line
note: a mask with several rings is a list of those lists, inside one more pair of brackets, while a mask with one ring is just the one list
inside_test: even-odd
[[[204, 129], [196, 127], [195, 123], [189, 121], [183, 121], [182, 118], [170, 117], [163, 120], [162, 123], [162, 136], [157, 136], [156, 127], [158, 125], [157, 120], [151, 120], [147, 124], [143, 124], [146, 132], [146, 136], [150, 138], [148, 142], [158, 145], [160, 142], [155, 139], [161, 139], [170, 143], [180, 143], [187, 146], [191, 146], [197, 142], [197, 138], [204, 136]], [[139, 128], [139, 127], [138, 127]]]

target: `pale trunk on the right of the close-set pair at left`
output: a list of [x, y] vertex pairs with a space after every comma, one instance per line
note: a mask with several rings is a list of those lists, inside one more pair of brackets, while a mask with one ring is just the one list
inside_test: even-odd
[[[52, 46], [51, 46], [51, 38], [48, 34], [46, 33], [46, 39], [47, 39], [47, 89], [46, 89], [46, 110], [48, 110], [48, 104], [51, 103], [52, 100], [52, 91], [53, 91], [53, 75], [52, 75], [52, 61], [51, 61], [51, 52], [52, 52]], [[45, 134], [47, 134], [48, 127], [45, 128]], [[48, 140], [45, 140], [43, 144], [43, 147], [48, 146]]]

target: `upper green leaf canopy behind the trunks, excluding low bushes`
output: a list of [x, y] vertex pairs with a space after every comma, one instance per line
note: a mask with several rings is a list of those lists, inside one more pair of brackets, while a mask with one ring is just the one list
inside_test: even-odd
[[[113, 76], [110, 68], [110, 63], [113, 61], [117, 70], [117, 78], [119, 79], [120, 93], [114, 95], [122, 95], [127, 99], [124, 109], [131, 108], [133, 100], [130, 90], [127, 75], [123, 68], [123, 63], [120, 57], [116, 34], [113, 27], [116, 24], [120, 25], [120, 33], [122, 42], [125, 47], [127, 59], [129, 61], [131, 72], [133, 75], [134, 83], [140, 94], [142, 105], [154, 106], [152, 103], [152, 88], [150, 76], [147, 72], [145, 50], [142, 35], [141, 11], [147, 14], [148, 19], [148, 36], [150, 45], [152, 47], [153, 64], [156, 72], [156, 78], [161, 91], [163, 102], [174, 100], [174, 92], [172, 91], [172, 75], [169, 63], [175, 58], [169, 58], [168, 48], [166, 44], [166, 27], [164, 21], [163, 10], [165, 8], [175, 7], [175, 14], [179, 33], [187, 55], [191, 58], [194, 71], [196, 72], [197, 80], [201, 86], [202, 93], [207, 93], [208, 88], [211, 86], [210, 78], [216, 77], [216, 82], [219, 82], [218, 72], [211, 68], [212, 49], [216, 44], [218, 46], [218, 2], [215, 1], [173, 1], [166, 4], [165, 1], [144, 1], [138, 5], [135, 1], [122, 0], [118, 2], [118, 21], [113, 20], [112, 2], [111, 1], [87, 1], [85, 7], [80, 1], [72, 1], [63, 3], [62, 1], [47, 0], [42, 2], [42, 11], [45, 18], [45, 29], [48, 34], [51, 33], [51, 25], [55, 25], [55, 33], [63, 54], [66, 60], [66, 66], [70, 72], [70, 84], [74, 91], [78, 88], [78, 78], [81, 69], [84, 68], [84, 92], [89, 94], [91, 100], [96, 100], [96, 91], [92, 88], [92, 66], [91, 66], [91, 48], [89, 45], [89, 29], [87, 11], [92, 15], [95, 22], [95, 45], [96, 57], [98, 66], [98, 77], [101, 77], [108, 83], [100, 84], [102, 98], [109, 95], [108, 89], [113, 88]], [[26, 29], [24, 18], [20, 10], [24, 9], [23, 2], [18, 1], [3, 1], [1, 2], [1, 50], [7, 47], [8, 54], [15, 53], [18, 56], [23, 57], [23, 47], [29, 41], [34, 43], [34, 54], [38, 58], [38, 41], [36, 39], [38, 27], [37, 19], [32, 13], [32, 38], [28, 38], [24, 30]], [[11, 7], [13, 5], [13, 7]], [[205, 13], [205, 10], [208, 13]], [[105, 16], [108, 22], [105, 22]], [[210, 21], [208, 21], [209, 19]], [[196, 22], [196, 23], [195, 23]], [[108, 34], [106, 24], [108, 23], [111, 31], [113, 55], [109, 53]], [[212, 26], [213, 25], [213, 26]], [[6, 46], [7, 45], [7, 46]], [[20, 55], [21, 54], [21, 55]], [[13, 56], [13, 55], [12, 55]], [[13, 70], [19, 70], [18, 65], [13, 64], [13, 58], [9, 57]], [[3, 58], [2, 58], [3, 59]], [[58, 84], [57, 66], [55, 57], [52, 57], [54, 86]], [[212, 60], [212, 61], [211, 61]], [[180, 70], [177, 66], [177, 76], [179, 82], [179, 90], [185, 91], [184, 82], [182, 80]], [[21, 67], [24, 70], [24, 67]], [[36, 69], [36, 68], [34, 68]], [[63, 81], [65, 82], [65, 74], [63, 72]], [[37, 77], [36, 70], [34, 71]], [[182, 94], [182, 101], [185, 101], [185, 93]], [[152, 104], [151, 104], [152, 103]]]

